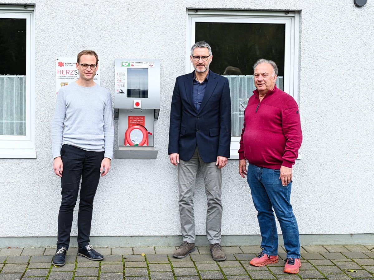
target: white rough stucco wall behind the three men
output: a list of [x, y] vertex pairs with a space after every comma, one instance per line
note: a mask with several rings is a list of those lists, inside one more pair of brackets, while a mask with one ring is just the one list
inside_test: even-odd
[[[34, 0], [37, 159], [0, 159], [0, 236], [56, 236], [61, 186], [52, 170], [50, 141], [55, 59], [82, 49], [96, 50], [100, 84], [112, 93], [115, 58], [161, 61], [161, 109], [154, 130], [158, 157], [112, 161], [96, 194], [91, 235], [180, 234], [177, 168], [169, 163], [167, 147], [174, 81], [185, 74], [186, 8], [301, 10], [303, 144], [292, 190], [300, 234], [373, 233], [374, 5], [368, 2], [358, 8], [353, 0]], [[259, 234], [249, 187], [237, 165], [230, 160], [223, 169], [222, 233]], [[205, 234], [201, 177], [194, 201], [197, 234]]]

